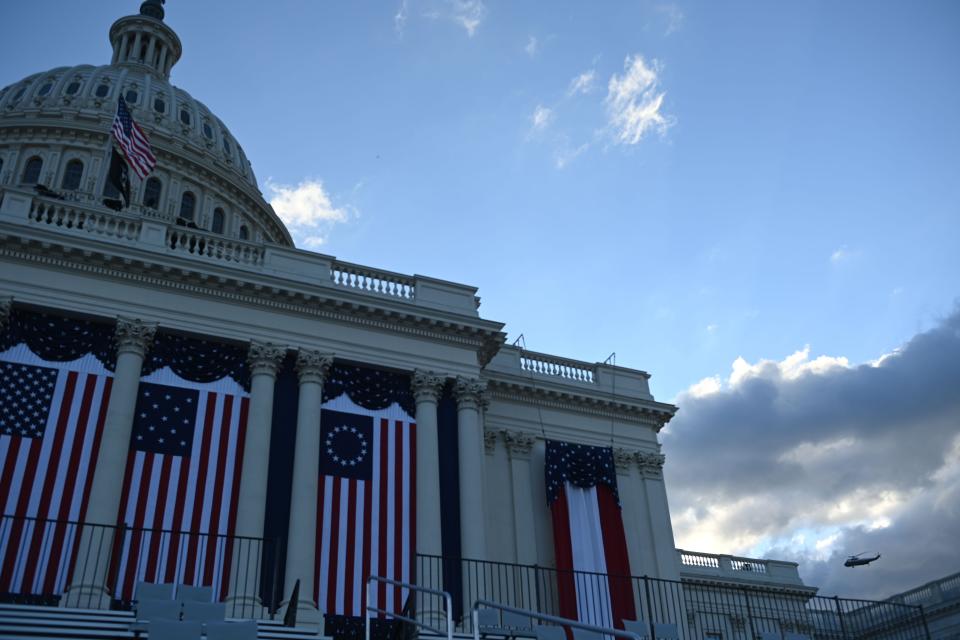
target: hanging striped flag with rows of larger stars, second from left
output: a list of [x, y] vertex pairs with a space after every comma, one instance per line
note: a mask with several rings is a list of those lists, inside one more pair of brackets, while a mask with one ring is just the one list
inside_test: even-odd
[[233, 378], [198, 383], [168, 367], [140, 381], [119, 519], [117, 597], [138, 581], [227, 595], [249, 395]]

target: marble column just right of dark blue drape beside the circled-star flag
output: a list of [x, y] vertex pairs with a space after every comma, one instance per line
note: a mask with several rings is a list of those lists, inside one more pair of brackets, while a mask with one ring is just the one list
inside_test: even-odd
[[486, 383], [458, 377], [457, 431], [460, 461], [460, 555], [470, 560], [487, 557], [486, 518], [483, 510], [483, 425], [480, 404]]

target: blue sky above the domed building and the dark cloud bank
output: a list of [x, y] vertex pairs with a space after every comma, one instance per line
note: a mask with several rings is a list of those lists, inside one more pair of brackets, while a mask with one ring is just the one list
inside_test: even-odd
[[[5, 30], [4, 50], [29, 54], [0, 59], [0, 84], [108, 62], [107, 29], [137, 4], [4, 6], [30, 26]], [[951, 326], [954, 2], [166, 9], [184, 44], [172, 81], [231, 128], [300, 246], [476, 285], [483, 315], [533, 350], [616, 351], [680, 403], [671, 437], [711, 422], [685, 422], [684, 399], [742, 399], [764, 362], [791, 382]], [[671, 500], [676, 520], [690, 504]], [[718, 533], [680, 543], [733, 539], [699, 530]]]

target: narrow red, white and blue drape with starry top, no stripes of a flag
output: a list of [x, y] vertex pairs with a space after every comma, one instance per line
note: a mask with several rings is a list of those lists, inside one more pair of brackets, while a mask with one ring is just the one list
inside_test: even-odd
[[603, 627], [635, 620], [613, 449], [547, 441], [560, 615]]

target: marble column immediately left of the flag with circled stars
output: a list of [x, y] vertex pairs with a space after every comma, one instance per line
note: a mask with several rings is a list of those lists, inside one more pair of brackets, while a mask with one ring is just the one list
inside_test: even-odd
[[300, 580], [297, 621], [320, 624], [323, 616], [314, 596], [317, 540], [317, 489], [320, 485], [320, 405], [323, 380], [333, 356], [301, 349], [297, 354], [300, 399], [297, 403], [297, 439], [293, 451], [290, 530], [283, 598], [289, 599]]

